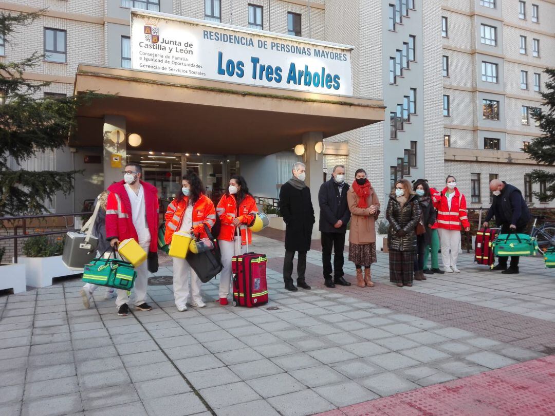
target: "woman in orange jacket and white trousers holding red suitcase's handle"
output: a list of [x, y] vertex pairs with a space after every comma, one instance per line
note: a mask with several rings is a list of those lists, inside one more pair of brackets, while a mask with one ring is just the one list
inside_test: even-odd
[[[229, 287], [231, 285], [231, 257], [243, 254], [247, 242], [251, 243], [251, 232], [245, 227], [253, 222], [256, 202], [243, 176], [234, 175], [229, 180], [228, 190], [218, 202], [216, 208], [221, 221], [218, 241], [221, 250], [221, 263], [224, 266], [220, 275], [220, 305], [228, 304]], [[236, 228], [240, 227], [241, 241], [239, 252], [236, 250]]]

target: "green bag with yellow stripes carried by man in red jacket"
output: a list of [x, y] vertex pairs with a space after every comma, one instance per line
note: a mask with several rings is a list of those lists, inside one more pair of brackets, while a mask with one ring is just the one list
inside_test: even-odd
[[[115, 257], [115, 250], [112, 251]], [[95, 258], [83, 268], [83, 282], [131, 290], [137, 272], [131, 263], [116, 258]]]

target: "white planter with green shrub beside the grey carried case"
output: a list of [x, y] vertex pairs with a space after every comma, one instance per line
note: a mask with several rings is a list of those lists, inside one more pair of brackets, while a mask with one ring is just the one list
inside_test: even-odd
[[62, 262], [63, 239], [57, 237], [51, 241], [47, 236], [26, 239], [23, 254], [19, 262], [26, 266], [28, 286], [51, 286], [54, 277], [74, 275], [75, 272], [65, 267]]

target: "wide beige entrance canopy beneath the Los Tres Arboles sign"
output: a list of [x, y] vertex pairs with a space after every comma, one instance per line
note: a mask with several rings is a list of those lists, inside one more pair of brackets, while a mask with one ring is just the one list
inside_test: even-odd
[[384, 120], [381, 100], [251, 87], [143, 70], [79, 65], [75, 93], [93, 99], [78, 110], [71, 146], [102, 146], [105, 115], [124, 116], [137, 150], [268, 155], [302, 135], [324, 138]]

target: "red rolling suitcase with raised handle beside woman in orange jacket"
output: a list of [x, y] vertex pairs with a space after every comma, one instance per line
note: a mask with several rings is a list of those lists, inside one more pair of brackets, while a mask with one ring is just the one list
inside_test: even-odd
[[[240, 237], [238, 237], [239, 245]], [[249, 251], [247, 242], [246, 251]], [[233, 275], [233, 306], [248, 308], [268, 303], [265, 254], [247, 252], [231, 258]]]

